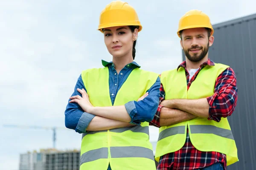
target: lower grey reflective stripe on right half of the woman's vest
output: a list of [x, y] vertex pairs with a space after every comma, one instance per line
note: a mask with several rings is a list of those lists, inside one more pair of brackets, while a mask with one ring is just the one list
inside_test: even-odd
[[145, 147], [110, 147], [111, 158], [148, 158], [154, 161], [154, 153]]

